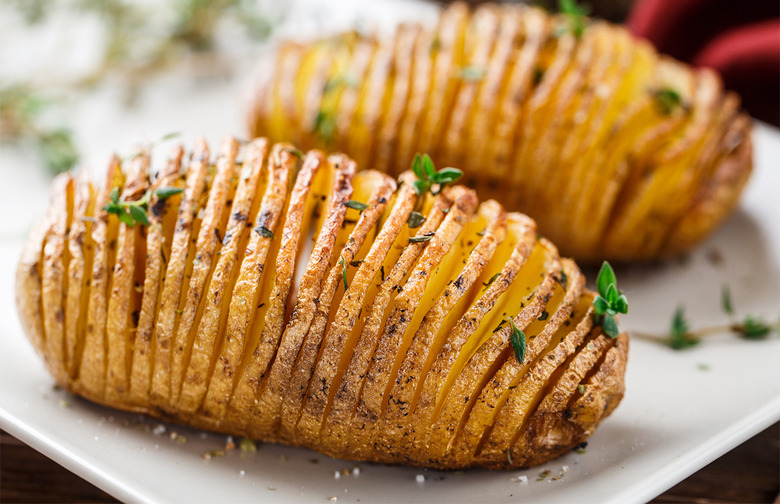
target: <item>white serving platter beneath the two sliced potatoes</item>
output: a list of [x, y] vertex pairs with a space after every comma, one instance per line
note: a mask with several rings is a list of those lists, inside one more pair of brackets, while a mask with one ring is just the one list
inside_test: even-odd
[[[421, 15], [430, 15], [425, 9]], [[295, 19], [300, 26], [286, 30], [309, 29], [303, 17]], [[100, 166], [112, 149], [183, 127], [187, 145], [197, 134], [214, 143], [242, 131], [234, 84], [158, 84], [129, 111], [110, 89], [77, 105], [77, 139], [91, 146], [86, 164]], [[622, 328], [664, 333], [678, 306], [693, 327], [725, 323], [724, 285], [740, 315], [777, 320], [780, 131], [757, 124], [754, 142], [755, 172], [740, 206], [710, 239], [682, 258], [617, 268], [630, 301]], [[584, 450], [523, 471], [354, 463], [271, 444], [242, 450], [239, 439], [226, 449], [231, 440], [224, 435], [93, 405], [53, 386], [15, 313], [16, 261], [47, 199], [48, 178], [35, 162], [23, 151], [0, 151], [0, 428], [120, 500], [643, 502], [780, 419], [776, 334], [763, 341], [715, 335], [685, 351], [632, 338], [626, 396], [616, 412]], [[595, 278], [595, 270], [586, 273]]]

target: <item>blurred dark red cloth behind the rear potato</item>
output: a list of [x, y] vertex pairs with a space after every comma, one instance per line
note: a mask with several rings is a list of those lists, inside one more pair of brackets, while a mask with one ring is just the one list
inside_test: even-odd
[[753, 117], [780, 126], [780, 2], [638, 0], [627, 24], [660, 52], [714, 68]]

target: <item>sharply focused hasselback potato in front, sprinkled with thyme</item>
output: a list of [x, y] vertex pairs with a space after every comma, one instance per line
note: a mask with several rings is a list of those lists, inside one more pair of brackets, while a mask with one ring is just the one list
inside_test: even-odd
[[265, 138], [211, 159], [199, 140], [55, 179], [16, 299], [65, 389], [433, 468], [545, 462], [622, 398], [627, 337], [525, 215]]

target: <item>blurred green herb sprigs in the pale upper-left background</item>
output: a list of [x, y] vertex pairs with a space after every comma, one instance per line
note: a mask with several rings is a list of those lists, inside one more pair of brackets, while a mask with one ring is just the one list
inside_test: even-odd
[[[28, 25], [45, 22], [55, 12], [94, 16], [105, 33], [99, 64], [72, 82], [58, 82], [59, 92], [84, 93], [108, 79], [126, 86], [128, 103], [150, 78], [196, 58], [192, 65], [211, 75], [226, 73], [217, 49], [217, 28], [223, 21], [241, 25], [249, 37], [264, 39], [272, 22], [255, 0], [168, 0], [154, 4], [130, 0], [3, 0]], [[168, 20], [160, 28], [159, 20]], [[44, 112], [61, 106], [45, 99], [50, 79], [41, 83], [0, 84], [0, 141], [35, 145], [53, 172], [70, 169], [78, 160], [70, 129], [45, 127]]]

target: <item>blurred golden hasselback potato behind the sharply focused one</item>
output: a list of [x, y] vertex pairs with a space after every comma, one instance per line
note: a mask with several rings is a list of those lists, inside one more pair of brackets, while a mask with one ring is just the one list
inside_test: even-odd
[[250, 132], [391, 174], [428, 152], [581, 261], [689, 249], [752, 169], [749, 118], [714, 72], [535, 7], [456, 3], [390, 37], [288, 41], [263, 75]]

